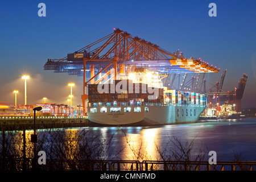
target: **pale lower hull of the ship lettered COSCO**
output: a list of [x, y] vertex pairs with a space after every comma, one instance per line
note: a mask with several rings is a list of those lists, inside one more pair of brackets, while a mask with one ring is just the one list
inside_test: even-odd
[[121, 108], [118, 113], [88, 113], [88, 119], [94, 123], [112, 126], [170, 125], [196, 122], [204, 109], [205, 106], [141, 106], [139, 113], [122, 112]]

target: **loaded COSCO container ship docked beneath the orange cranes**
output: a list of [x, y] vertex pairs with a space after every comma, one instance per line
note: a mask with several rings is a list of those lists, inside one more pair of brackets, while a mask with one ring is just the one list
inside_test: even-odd
[[111, 84], [88, 85], [88, 119], [102, 125], [192, 123], [205, 107], [205, 94], [170, 90], [158, 72], [135, 72]]

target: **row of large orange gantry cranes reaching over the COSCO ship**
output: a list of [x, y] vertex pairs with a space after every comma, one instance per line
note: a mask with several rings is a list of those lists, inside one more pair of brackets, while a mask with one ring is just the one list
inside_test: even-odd
[[[132, 72], [135, 67], [146, 67], [148, 70], [163, 74], [220, 71], [200, 59], [185, 58], [179, 50], [176, 53], [170, 53], [156, 44], [138, 36], [132, 36], [119, 28], [114, 28], [112, 34], [68, 54], [63, 59], [48, 59], [44, 65], [45, 70], [68, 72], [70, 75], [84, 77], [84, 90], [81, 96], [84, 113], [85, 100], [88, 98], [86, 86], [89, 82], [96, 84], [104, 77], [108, 80], [117, 79], [118, 74], [125, 75]], [[87, 70], [90, 71], [89, 80], [86, 80]]]

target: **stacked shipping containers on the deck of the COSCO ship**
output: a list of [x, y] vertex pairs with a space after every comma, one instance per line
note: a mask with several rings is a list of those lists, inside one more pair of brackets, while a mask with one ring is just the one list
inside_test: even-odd
[[[206, 105], [205, 94], [199, 94], [194, 92], [183, 92], [178, 90], [168, 90], [162, 88], [151, 88], [151, 90], [158, 89], [158, 96], [154, 99], [148, 99], [152, 97], [154, 93], [148, 93], [150, 88], [146, 84], [134, 84], [131, 83], [133, 89], [129, 88], [129, 81], [127, 80], [127, 90], [117, 93], [115, 86], [121, 80], [115, 80], [115, 84], [107, 84], [108, 93], [99, 93], [98, 84], [88, 85], [88, 102], [155, 102], [165, 104], [181, 104], [181, 105]], [[120, 88], [123, 89], [122, 86]], [[156, 91], [156, 90], [155, 90]], [[165, 98], [165, 99], [164, 99]]]

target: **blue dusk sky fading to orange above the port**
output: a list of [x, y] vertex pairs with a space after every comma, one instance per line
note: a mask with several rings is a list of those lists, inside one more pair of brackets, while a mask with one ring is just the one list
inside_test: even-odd
[[[46, 4], [46, 17], [38, 4]], [[209, 3], [217, 16], [210, 17]], [[243, 73], [248, 75], [242, 108], [256, 107], [256, 1], [1, 1], [0, 102], [82, 104], [82, 77], [44, 71], [47, 59], [61, 59], [120, 28], [169, 52], [180, 49], [220, 68], [207, 73], [213, 84], [227, 69], [222, 89], [232, 91]]]

